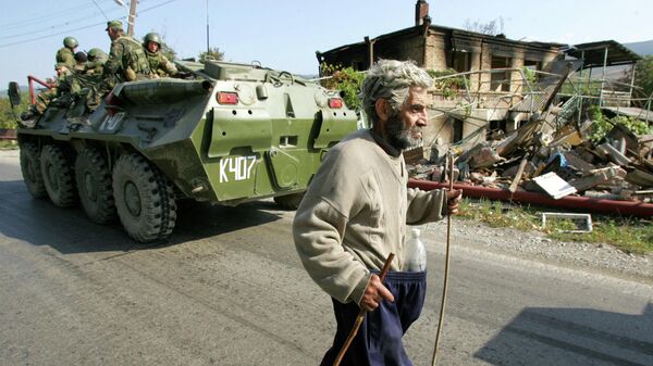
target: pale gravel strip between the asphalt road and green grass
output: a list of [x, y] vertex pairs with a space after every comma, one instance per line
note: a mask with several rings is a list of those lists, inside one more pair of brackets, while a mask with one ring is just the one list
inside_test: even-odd
[[[422, 227], [439, 242], [446, 242], [446, 220]], [[625, 253], [609, 244], [556, 241], [538, 231], [492, 228], [468, 219], [454, 218], [452, 227], [452, 245], [467, 245], [653, 285], [651, 254]]]

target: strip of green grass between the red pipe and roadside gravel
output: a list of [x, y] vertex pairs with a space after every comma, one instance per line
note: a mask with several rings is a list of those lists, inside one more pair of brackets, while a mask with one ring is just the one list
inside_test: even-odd
[[547, 222], [546, 228], [542, 228], [541, 211], [500, 201], [471, 201], [468, 198], [463, 199], [458, 217], [485, 223], [490, 227], [537, 230], [554, 240], [606, 243], [627, 253], [653, 252], [653, 225], [644, 219], [592, 215], [592, 232], [564, 232], [574, 230], [576, 224], [569, 219], [557, 219]]

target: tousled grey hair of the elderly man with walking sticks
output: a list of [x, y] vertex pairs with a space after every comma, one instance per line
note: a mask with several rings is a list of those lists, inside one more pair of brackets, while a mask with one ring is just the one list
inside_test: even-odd
[[368, 118], [379, 121], [375, 103], [380, 98], [390, 102], [393, 111], [398, 112], [408, 98], [410, 87], [429, 88], [433, 79], [415, 61], [379, 60], [368, 72], [359, 98]]

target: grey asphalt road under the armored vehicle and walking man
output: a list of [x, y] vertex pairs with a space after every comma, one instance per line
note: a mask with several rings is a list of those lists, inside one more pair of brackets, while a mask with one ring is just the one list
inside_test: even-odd
[[[27, 193], [0, 152], [0, 365], [318, 365], [334, 321], [304, 272], [293, 212], [183, 202], [172, 239], [133, 242]], [[430, 365], [444, 225], [405, 337]], [[653, 365], [653, 288], [490, 253], [455, 231], [439, 365]]]

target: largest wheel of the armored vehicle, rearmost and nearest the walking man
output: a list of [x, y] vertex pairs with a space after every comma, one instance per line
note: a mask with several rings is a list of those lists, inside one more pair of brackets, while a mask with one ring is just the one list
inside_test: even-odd
[[120, 156], [113, 168], [113, 198], [123, 227], [136, 241], [167, 239], [176, 220], [172, 184], [137, 154]]

